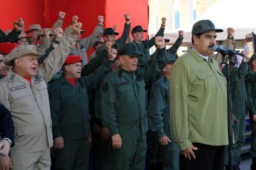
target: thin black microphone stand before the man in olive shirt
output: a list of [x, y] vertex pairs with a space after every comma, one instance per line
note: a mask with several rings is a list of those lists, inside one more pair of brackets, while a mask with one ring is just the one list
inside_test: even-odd
[[231, 87], [230, 87], [230, 59], [225, 59], [228, 52], [220, 52], [222, 55], [223, 64], [226, 65], [226, 79], [227, 79], [227, 96], [228, 96], [228, 170], [233, 169], [233, 115], [232, 115], [232, 105], [231, 105]]

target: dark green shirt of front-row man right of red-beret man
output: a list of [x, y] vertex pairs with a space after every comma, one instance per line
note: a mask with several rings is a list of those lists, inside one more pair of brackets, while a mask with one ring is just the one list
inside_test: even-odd
[[110, 135], [146, 135], [145, 83], [165, 67], [165, 48], [158, 50], [157, 60], [152, 64], [127, 72], [123, 69], [112, 72], [102, 86], [102, 121]]

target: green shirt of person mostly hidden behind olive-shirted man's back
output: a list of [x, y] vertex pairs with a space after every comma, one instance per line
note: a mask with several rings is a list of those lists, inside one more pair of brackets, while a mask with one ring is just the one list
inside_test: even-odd
[[172, 135], [170, 107], [169, 107], [170, 81], [161, 76], [156, 81], [149, 95], [148, 122], [149, 128], [158, 132], [159, 137]]

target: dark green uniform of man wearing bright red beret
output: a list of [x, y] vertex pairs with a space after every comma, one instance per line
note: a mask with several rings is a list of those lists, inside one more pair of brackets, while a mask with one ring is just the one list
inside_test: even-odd
[[88, 169], [91, 116], [87, 90], [96, 86], [111, 66], [112, 62], [106, 61], [90, 76], [78, 79], [75, 87], [64, 77], [49, 87], [54, 139], [64, 139], [64, 148], [55, 152], [56, 169]]

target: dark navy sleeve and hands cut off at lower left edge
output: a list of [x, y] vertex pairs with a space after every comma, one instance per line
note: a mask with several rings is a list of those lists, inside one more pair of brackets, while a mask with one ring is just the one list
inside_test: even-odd
[[13, 136], [15, 127], [11, 119], [11, 113], [4, 105], [0, 103], [0, 169], [8, 169], [11, 167], [11, 159], [9, 158], [9, 149], [14, 145]]

